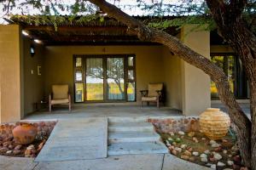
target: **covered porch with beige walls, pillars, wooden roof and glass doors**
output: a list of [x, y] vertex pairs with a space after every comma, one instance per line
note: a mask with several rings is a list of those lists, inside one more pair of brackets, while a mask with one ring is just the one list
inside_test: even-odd
[[[148, 22], [148, 18], [140, 20]], [[0, 100], [0, 122], [73, 116], [198, 116], [211, 106], [210, 78], [203, 71], [161, 44], [140, 41], [117, 20], [82, 24], [64, 20], [57, 30], [50, 23], [36, 26], [26, 17], [13, 18], [11, 23], [0, 26], [1, 39], [9, 39], [4, 50], [0, 47], [1, 74], [8, 75], [1, 80], [0, 92], [5, 93]], [[209, 58], [210, 33], [191, 32], [194, 27], [166, 31]], [[108, 74], [116, 61], [121, 64], [116, 74], [119, 88]], [[90, 69], [102, 75], [92, 77]], [[148, 89], [149, 83], [164, 85], [160, 109], [140, 107], [140, 91]], [[71, 112], [67, 108], [49, 112], [49, 94], [55, 84], [68, 85]]]

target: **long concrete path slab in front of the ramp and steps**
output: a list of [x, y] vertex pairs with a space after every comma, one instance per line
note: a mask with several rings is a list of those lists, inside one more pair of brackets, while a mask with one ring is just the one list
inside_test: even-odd
[[39, 162], [35, 170], [161, 170], [163, 156], [125, 155], [96, 160]]

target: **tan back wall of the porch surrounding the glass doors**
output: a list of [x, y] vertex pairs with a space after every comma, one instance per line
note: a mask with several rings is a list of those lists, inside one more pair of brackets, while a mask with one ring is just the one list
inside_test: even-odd
[[73, 54], [136, 54], [137, 103], [148, 82], [165, 81], [162, 46], [49, 46], [44, 54], [45, 94], [52, 84], [67, 83], [73, 99]]

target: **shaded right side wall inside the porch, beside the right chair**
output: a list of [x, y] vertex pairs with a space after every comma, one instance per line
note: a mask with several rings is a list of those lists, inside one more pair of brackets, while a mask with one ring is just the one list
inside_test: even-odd
[[166, 105], [182, 111], [181, 59], [166, 47], [162, 48]]

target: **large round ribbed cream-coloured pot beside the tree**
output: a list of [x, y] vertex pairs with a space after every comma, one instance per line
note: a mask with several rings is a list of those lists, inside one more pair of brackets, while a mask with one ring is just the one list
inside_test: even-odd
[[208, 108], [201, 113], [199, 124], [209, 139], [222, 139], [229, 131], [230, 116], [217, 108]]

